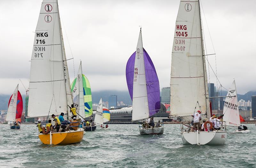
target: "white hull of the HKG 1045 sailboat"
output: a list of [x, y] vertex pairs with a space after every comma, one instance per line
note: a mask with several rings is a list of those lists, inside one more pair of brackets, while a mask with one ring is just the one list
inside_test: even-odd
[[223, 145], [227, 139], [227, 131], [199, 131], [181, 133], [183, 144]]

